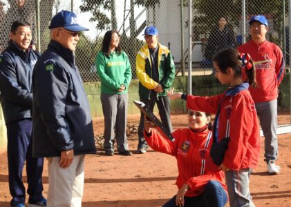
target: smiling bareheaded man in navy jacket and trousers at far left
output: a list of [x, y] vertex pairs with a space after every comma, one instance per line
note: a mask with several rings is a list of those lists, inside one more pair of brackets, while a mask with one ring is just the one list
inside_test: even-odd
[[32, 69], [39, 53], [31, 47], [31, 29], [26, 21], [14, 21], [10, 42], [0, 55], [0, 101], [7, 128], [7, 155], [11, 206], [24, 207], [26, 189], [22, 170], [26, 164], [28, 204], [46, 206], [41, 176], [43, 158], [32, 157]]

